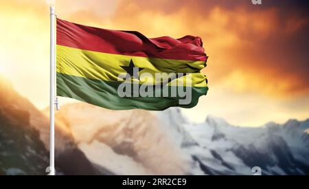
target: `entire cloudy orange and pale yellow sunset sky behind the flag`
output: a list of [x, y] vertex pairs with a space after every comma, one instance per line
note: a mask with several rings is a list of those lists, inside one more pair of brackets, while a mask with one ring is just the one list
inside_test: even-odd
[[[306, 0], [62, 0], [58, 18], [149, 38], [201, 36], [209, 91], [187, 118], [231, 124], [309, 116]], [[49, 8], [45, 0], [0, 0], [0, 75], [38, 109], [49, 104]], [[60, 102], [71, 102], [60, 98]]]

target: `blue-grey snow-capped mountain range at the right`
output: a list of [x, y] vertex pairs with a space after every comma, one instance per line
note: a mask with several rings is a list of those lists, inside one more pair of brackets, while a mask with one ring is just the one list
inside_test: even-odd
[[192, 157], [192, 174], [202, 170], [206, 175], [252, 175], [254, 166], [262, 169], [262, 175], [309, 174], [309, 120], [253, 128], [233, 126], [214, 116], [192, 124], [179, 109], [158, 116]]

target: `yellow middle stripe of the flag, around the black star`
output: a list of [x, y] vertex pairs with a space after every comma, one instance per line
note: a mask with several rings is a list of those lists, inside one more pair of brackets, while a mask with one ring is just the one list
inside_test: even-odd
[[[156, 73], [192, 73], [205, 66], [203, 61], [170, 60], [108, 54], [65, 47], [62, 45], [56, 46], [56, 54], [56, 70], [58, 73], [104, 81], [117, 81], [119, 79], [119, 74], [126, 73], [120, 66], [128, 66], [132, 59], [135, 67], [144, 68], [139, 71], [139, 75], [141, 76], [139, 83], [151, 85], [159, 82], [155, 80]], [[144, 73], [148, 73], [152, 77], [146, 80], [146, 78], [143, 77]], [[206, 77], [199, 73], [199, 71], [176, 80], [181, 82], [183, 79], [189, 77], [192, 78], [192, 85], [190, 86], [207, 87], [205, 82]], [[169, 85], [175, 85], [175, 82], [170, 82]]]

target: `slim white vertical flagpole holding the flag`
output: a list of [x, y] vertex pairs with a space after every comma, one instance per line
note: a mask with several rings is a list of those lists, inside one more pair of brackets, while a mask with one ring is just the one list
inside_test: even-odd
[[55, 7], [50, 8], [49, 175], [55, 175]]

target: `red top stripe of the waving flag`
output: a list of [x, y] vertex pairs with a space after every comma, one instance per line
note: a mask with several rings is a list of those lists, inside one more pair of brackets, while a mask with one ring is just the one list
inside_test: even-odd
[[139, 32], [105, 30], [57, 19], [57, 44], [129, 56], [206, 61], [202, 39], [184, 36], [146, 38]]

